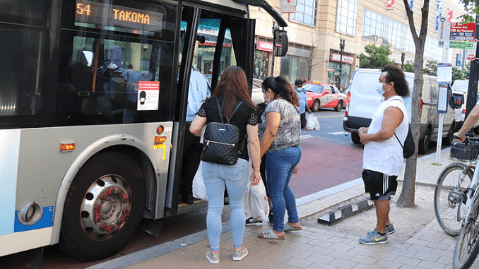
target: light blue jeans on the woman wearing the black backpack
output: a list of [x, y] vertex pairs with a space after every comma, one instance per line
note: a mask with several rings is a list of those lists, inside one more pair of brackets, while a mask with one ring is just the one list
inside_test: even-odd
[[233, 235], [233, 246], [239, 248], [243, 244], [244, 234], [244, 193], [248, 180], [248, 161], [239, 158], [236, 165], [218, 165], [212, 162], [203, 163], [203, 181], [208, 193], [208, 213], [206, 229], [210, 239], [211, 251], [220, 250], [221, 213], [225, 196], [225, 186], [230, 201], [230, 225]]

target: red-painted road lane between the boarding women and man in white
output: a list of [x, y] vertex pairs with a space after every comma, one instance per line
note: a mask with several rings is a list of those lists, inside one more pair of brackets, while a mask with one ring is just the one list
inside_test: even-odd
[[301, 198], [358, 179], [362, 172], [362, 146], [332, 143], [321, 138], [301, 140], [302, 155], [290, 188]]

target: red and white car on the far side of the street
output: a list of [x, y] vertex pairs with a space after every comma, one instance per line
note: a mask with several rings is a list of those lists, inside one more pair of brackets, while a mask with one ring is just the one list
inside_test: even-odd
[[334, 107], [334, 110], [339, 112], [348, 104], [346, 95], [335, 85], [309, 81], [302, 88], [306, 90], [306, 102], [312, 112], [317, 112], [321, 107]]

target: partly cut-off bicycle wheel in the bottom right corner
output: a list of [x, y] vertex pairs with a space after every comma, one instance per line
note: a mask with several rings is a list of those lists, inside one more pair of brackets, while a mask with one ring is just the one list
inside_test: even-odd
[[471, 216], [467, 216], [469, 220], [461, 228], [457, 237], [456, 248], [452, 256], [452, 268], [454, 269], [470, 268], [479, 253], [478, 196], [475, 197], [471, 206], [473, 207]]

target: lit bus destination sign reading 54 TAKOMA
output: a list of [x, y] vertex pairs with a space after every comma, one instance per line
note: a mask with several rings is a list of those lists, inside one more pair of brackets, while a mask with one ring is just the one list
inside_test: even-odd
[[160, 31], [163, 28], [163, 14], [125, 6], [79, 0], [76, 1], [75, 22]]

